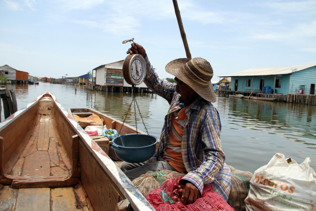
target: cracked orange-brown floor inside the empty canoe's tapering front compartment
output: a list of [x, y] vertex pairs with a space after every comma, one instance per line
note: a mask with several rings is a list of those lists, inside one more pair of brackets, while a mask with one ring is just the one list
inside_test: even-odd
[[[27, 143], [17, 162], [8, 164], [13, 166], [7, 169], [11, 176], [62, 176], [69, 175], [69, 158], [65, 153], [62, 143], [59, 143], [59, 135], [55, 131], [53, 120], [50, 115], [41, 115], [35, 121], [37, 123], [30, 128], [25, 138]], [[16, 156], [16, 155], [13, 155]], [[64, 158], [66, 157], [66, 158]], [[14, 159], [12, 159], [14, 160]]]

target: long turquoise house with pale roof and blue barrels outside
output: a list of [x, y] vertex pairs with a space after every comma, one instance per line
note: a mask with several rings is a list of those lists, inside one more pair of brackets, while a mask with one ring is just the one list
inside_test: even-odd
[[232, 91], [314, 95], [316, 65], [256, 68], [220, 77], [231, 77]]

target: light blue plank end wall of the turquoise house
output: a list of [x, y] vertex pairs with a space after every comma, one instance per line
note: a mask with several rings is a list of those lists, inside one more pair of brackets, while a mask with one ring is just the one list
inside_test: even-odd
[[297, 71], [292, 74], [290, 86], [293, 87], [293, 90], [292, 92], [290, 91], [290, 93], [295, 94], [295, 89], [300, 90], [300, 85], [306, 85], [304, 94], [309, 94], [311, 90], [311, 84], [316, 84], [316, 66]]

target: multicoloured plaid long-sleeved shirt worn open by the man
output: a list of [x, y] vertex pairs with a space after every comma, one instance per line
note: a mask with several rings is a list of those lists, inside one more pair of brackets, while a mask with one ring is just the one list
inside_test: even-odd
[[[162, 128], [160, 143], [154, 156], [147, 162], [156, 162], [168, 143], [172, 123], [172, 113], [182, 107], [182, 97], [175, 91], [176, 84], [160, 80], [145, 57], [147, 73], [144, 83], [170, 104]], [[226, 201], [231, 187], [230, 169], [225, 162], [225, 154], [220, 140], [221, 120], [212, 103], [198, 97], [185, 110], [188, 124], [185, 126], [181, 149], [183, 163], [188, 172], [182, 179], [193, 183], [202, 194], [204, 184], [213, 183], [214, 190]]]

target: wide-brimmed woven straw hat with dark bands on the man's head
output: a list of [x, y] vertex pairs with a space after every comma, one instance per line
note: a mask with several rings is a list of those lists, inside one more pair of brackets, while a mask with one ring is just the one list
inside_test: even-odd
[[166, 65], [166, 71], [188, 84], [205, 100], [216, 102], [211, 83], [213, 69], [205, 59], [175, 59]]

